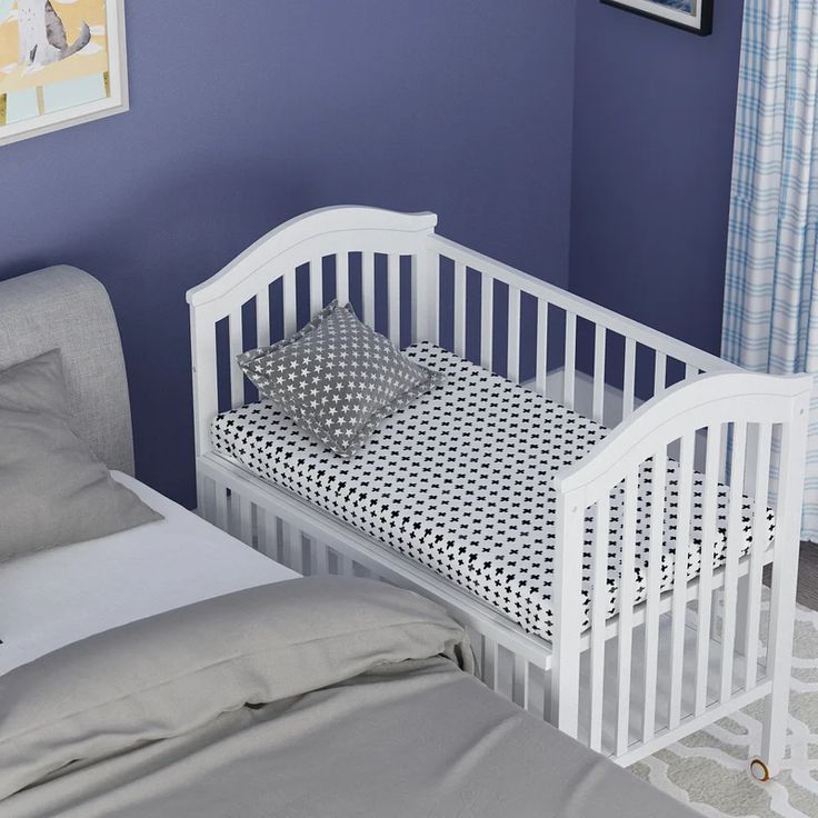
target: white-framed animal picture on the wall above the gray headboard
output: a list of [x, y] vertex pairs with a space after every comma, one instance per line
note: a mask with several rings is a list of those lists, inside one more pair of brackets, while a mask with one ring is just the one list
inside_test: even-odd
[[0, 146], [128, 110], [124, 0], [0, 0]]

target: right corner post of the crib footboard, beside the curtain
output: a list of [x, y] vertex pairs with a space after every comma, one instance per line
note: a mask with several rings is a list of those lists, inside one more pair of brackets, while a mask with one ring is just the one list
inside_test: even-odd
[[779, 772], [787, 744], [809, 405], [809, 393], [794, 400], [790, 420], [784, 423], [781, 432], [767, 650], [767, 675], [772, 685], [765, 706], [761, 735], [761, 759], [770, 776]]

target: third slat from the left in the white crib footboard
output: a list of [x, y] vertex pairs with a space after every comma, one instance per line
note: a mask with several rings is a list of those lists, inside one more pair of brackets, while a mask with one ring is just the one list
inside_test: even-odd
[[661, 551], [665, 543], [665, 493], [668, 452], [665, 447], [654, 455], [650, 481], [650, 550], [648, 556], [645, 621], [645, 702], [642, 741], [654, 738], [656, 727], [656, 686], [659, 667], [659, 602]]

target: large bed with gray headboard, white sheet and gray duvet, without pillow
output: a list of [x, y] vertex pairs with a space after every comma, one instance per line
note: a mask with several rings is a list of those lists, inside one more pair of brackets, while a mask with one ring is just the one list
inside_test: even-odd
[[136, 481], [78, 270], [0, 283], [0, 370], [51, 349], [73, 428], [163, 519], [0, 563], [0, 816], [690, 815], [478, 681], [439, 606], [298, 578]]

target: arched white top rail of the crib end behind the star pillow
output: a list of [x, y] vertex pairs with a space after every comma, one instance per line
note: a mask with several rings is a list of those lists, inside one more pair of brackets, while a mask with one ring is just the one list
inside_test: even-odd
[[188, 303], [198, 307], [226, 296], [277, 257], [321, 236], [339, 232], [430, 233], [438, 223], [436, 213], [399, 213], [355, 205], [320, 208], [297, 216], [262, 236], [227, 267], [188, 290]]

